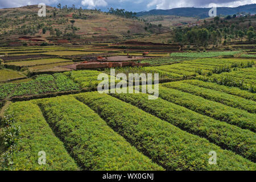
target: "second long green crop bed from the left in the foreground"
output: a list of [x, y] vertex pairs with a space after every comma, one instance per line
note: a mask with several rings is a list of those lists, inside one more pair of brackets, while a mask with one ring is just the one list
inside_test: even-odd
[[72, 96], [37, 101], [49, 125], [84, 170], [163, 170]]

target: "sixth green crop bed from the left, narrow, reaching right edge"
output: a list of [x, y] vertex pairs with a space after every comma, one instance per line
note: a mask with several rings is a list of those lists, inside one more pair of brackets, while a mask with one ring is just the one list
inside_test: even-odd
[[169, 82], [162, 84], [162, 86], [180, 90], [182, 92], [191, 93], [195, 96], [200, 96], [210, 101], [220, 102], [221, 104], [227, 106], [243, 109], [249, 113], [256, 113], [256, 102], [246, 100], [241, 97], [232, 96], [230, 94], [222, 93], [216, 90], [200, 88], [199, 86], [186, 84], [184, 82]]

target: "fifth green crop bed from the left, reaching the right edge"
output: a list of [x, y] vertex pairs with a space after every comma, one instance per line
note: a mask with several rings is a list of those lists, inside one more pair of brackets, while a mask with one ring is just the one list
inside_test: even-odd
[[159, 97], [197, 113], [255, 132], [256, 114], [163, 86], [159, 86]]

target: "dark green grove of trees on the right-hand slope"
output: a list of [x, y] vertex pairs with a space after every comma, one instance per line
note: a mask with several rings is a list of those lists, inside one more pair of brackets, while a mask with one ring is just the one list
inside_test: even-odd
[[[232, 19], [229, 17], [231, 16], [227, 16], [226, 19]], [[228, 22], [227, 20], [221, 19], [220, 24], [218, 23], [219, 21], [220, 17], [216, 16], [214, 17], [214, 22], [212, 21], [207, 25], [207, 22], [205, 21], [205, 23], [199, 27], [176, 28], [174, 31], [174, 41], [176, 43], [207, 48], [210, 44], [218, 47], [220, 44], [230, 44], [239, 39], [242, 42], [245, 37], [248, 41], [255, 40], [256, 38], [254, 28], [251, 26], [250, 22], [250, 27], [248, 28], [247, 26], [239, 25], [243, 20], [241, 20], [241, 22], [236, 22], [236, 24], [234, 24], [232, 20]], [[222, 39], [224, 39], [224, 42], [222, 42]]]

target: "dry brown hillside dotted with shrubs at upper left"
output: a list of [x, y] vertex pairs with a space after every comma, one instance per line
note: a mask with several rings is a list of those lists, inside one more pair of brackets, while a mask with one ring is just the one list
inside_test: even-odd
[[[82, 42], [126, 40], [138, 35], [168, 32], [168, 28], [151, 26], [137, 19], [127, 19], [95, 10], [56, 9], [47, 6], [47, 16], [38, 16], [38, 6], [0, 9], [0, 38], [27, 40], [28, 44], [67, 42], [72, 37]], [[75, 23], [71, 23], [75, 20]], [[148, 27], [145, 29], [145, 27]], [[7, 41], [8, 42], [8, 41]]]

